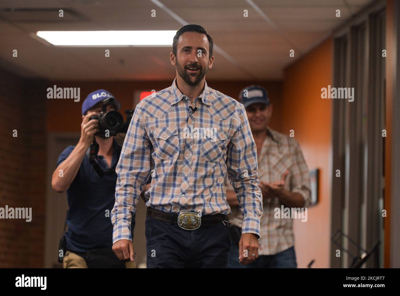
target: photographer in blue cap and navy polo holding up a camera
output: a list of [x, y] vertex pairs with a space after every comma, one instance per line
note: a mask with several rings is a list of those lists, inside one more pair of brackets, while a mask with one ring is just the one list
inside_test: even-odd
[[[121, 146], [113, 136], [99, 132], [99, 120], [90, 120], [100, 114], [103, 101], [107, 98], [113, 98], [113, 102], [107, 105], [106, 112], [121, 108], [120, 102], [106, 90], [96, 90], [84, 100], [79, 142], [76, 146], [68, 146], [60, 154], [52, 175], [52, 188], [59, 193], [66, 191], [68, 196], [64, 268], [134, 267], [134, 262], [120, 261], [112, 251], [110, 212], [115, 203], [115, 167]], [[94, 138], [98, 143], [97, 163], [104, 171], [101, 178], [89, 162]], [[133, 217], [130, 224], [132, 233], [134, 225]]]

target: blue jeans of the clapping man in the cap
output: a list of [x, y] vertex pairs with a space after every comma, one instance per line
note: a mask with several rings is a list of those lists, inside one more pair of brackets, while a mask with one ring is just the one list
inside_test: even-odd
[[228, 268], [297, 268], [294, 247], [275, 255], [259, 255], [254, 262], [247, 265], [240, 264], [238, 258], [239, 246], [233, 244], [229, 252]]

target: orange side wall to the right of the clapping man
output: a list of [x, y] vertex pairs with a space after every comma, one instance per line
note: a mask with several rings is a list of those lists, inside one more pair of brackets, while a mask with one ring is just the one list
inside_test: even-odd
[[307, 222], [294, 221], [299, 268], [306, 268], [312, 259], [313, 268], [330, 267], [332, 101], [321, 98], [321, 88], [332, 84], [332, 61], [329, 38], [284, 71], [278, 130], [284, 134], [294, 130], [308, 168], [320, 169], [319, 204], [308, 209]]

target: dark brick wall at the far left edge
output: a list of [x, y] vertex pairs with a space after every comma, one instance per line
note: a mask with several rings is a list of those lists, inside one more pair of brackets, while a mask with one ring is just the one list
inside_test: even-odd
[[[0, 268], [43, 266], [46, 88], [0, 71], [0, 207], [32, 208], [32, 221], [0, 219]], [[13, 137], [17, 130], [17, 137]]]

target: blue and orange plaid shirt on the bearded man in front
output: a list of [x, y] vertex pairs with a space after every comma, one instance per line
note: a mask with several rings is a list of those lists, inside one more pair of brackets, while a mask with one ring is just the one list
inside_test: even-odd
[[[193, 113], [192, 109], [197, 107]], [[260, 236], [262, 195], [258, 188], [256, 144], [244, 106], [204, 84], [190, 102], [176, 86], [139, 102], [125, 137], [115, 204], [113, 243], [132, 240], [130, 221], [144, 193], [147, 207], [179, 214], [230, 214], [224, 178], [238, 196], [242, 233]]]

